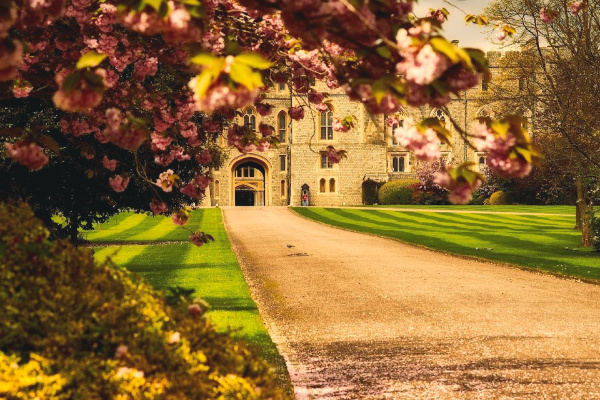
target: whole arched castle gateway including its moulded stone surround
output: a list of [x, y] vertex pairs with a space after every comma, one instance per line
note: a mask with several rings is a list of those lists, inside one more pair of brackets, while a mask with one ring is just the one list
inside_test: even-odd
[[235, 206], [269, 205], [268, 161], [246, 156], [231, 164], [231, 202]]

